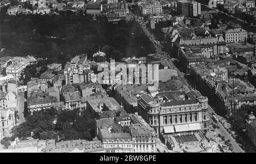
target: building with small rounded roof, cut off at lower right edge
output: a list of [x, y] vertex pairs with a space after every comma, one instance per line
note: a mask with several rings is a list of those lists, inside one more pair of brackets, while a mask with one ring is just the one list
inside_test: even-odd
[[246, 134], [256, 146], [256, 118], [253, 112], [246, 119]]

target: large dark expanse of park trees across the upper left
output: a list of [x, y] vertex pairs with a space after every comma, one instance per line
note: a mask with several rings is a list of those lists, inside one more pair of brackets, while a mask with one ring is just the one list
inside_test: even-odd
[[[1, 16], [1, 47], [5, 55], [49, 58], [65, 64], [71, 57], [88, 57], [105, 45], [112, 47], [115, 59], [154, 53], [150, 40], [138, 23], [109, 23], [101, 17], [61, 13], [60, 15]], [[117, 56], [117, 57], [116, 57]]]

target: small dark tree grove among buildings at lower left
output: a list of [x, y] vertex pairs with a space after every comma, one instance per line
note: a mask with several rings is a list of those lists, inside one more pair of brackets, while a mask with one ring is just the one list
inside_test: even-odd
[[91, 131], [95, 121], [79, 110], [56, 111], [54, 108], [35, 111], [26, 117], [26, 121], [11, 131], [10, 140], [18, 137], [21, 140], [31, 136], [40, 140], [77, 140], [92, 139]]

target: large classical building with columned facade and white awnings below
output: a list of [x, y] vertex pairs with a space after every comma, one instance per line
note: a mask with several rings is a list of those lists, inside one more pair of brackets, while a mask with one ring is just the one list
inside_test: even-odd
[[[187, 100], [156, 100], [144, 94], [138, 98], [139, 115], [156, 133], [174, 133], [207, 129], [208, 98], [198, 96]], [[167, 132], [166, 132], [167, 131]]]

